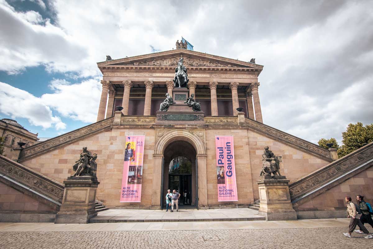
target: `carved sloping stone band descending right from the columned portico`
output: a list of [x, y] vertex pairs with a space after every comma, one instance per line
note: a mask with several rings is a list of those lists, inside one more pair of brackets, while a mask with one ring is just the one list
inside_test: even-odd
[[275, 137], [276, 139], [279, 139], [281, 141], [285, 141], [291, 144], [295, 144], [299, 146], [300, 148], [303, 148], [307, 151], [311, 151], [314, 154], [321, 156], [326, 161], [332, 161], [330, 158], [330, 152], [327, 149], [324, 149], [322, 147], [316, 146], [310, 142], [307, 142], [305, 140], [301, 140], [300, 138], [291, 136], [290, 134], [283, 133], [279, 130], [276, 130], [275, 128], [266, 126], [264, 124], [261, 124], [259, 122], [252, 121], [250, 119], [245, 119], [246, 124], [248, 124], [253, 130], [260, 131], [261, 133], [271, 135]]

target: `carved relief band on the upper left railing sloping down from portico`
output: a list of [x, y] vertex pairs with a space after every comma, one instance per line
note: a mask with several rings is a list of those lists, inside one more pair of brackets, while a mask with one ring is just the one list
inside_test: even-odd
[[24, 161], [27, 157], [35, 155], [37, 153], [48, 151], [52, 147], [59, 146], [61, 144], [65, 144], [66, 142], [75, 140], [76, 138], [85, 136], [87, 134], [93, 133], [97, 130], [100, 130], [104, 127], [108, 127], [113, 123], [114, 117], [110, 119], [104, 119], [103, 121], [96, 122], [94, 124], [88, 125], [86, 127], [83, 127], [79, 130], [71, 131], [69, 133], [66, 133], [62, 136], [55, 137], [48, 139], [44, 142], [35, 144], [31, 147], [28, 147], [24, 150], [22, 150], [22, 157], [21, 160]]

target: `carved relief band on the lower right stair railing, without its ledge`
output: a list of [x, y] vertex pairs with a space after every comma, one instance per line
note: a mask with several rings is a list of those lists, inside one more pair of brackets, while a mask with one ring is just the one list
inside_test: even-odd
[[[354, 153], [354, 152], [353, 152]], [[300, 197], [316, 187], [335, 179], [351, 169], [356, 168], [365, 161], [373, 158], [373, 144], [369, 147], [356, 151], [354, 155], [345, 157], [329, 164], [327, 167], [308, 175], [307, 177], [289, 185], [290, 197], [292, 200]]]

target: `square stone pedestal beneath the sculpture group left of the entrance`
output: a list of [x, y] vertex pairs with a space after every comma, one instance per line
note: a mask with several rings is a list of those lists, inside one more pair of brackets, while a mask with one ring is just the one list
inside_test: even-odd
[[95, 198], [98, 184], [96, 177], [68, 177], [63, 181], [62, 205], [55, 223], [88, 223], [97, 215]]

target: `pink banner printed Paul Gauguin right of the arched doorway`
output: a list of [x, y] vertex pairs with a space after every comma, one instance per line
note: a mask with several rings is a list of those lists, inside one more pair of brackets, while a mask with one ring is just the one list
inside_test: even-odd
[[238, 201], [233, 136], [215, 136], [217, 200]]

